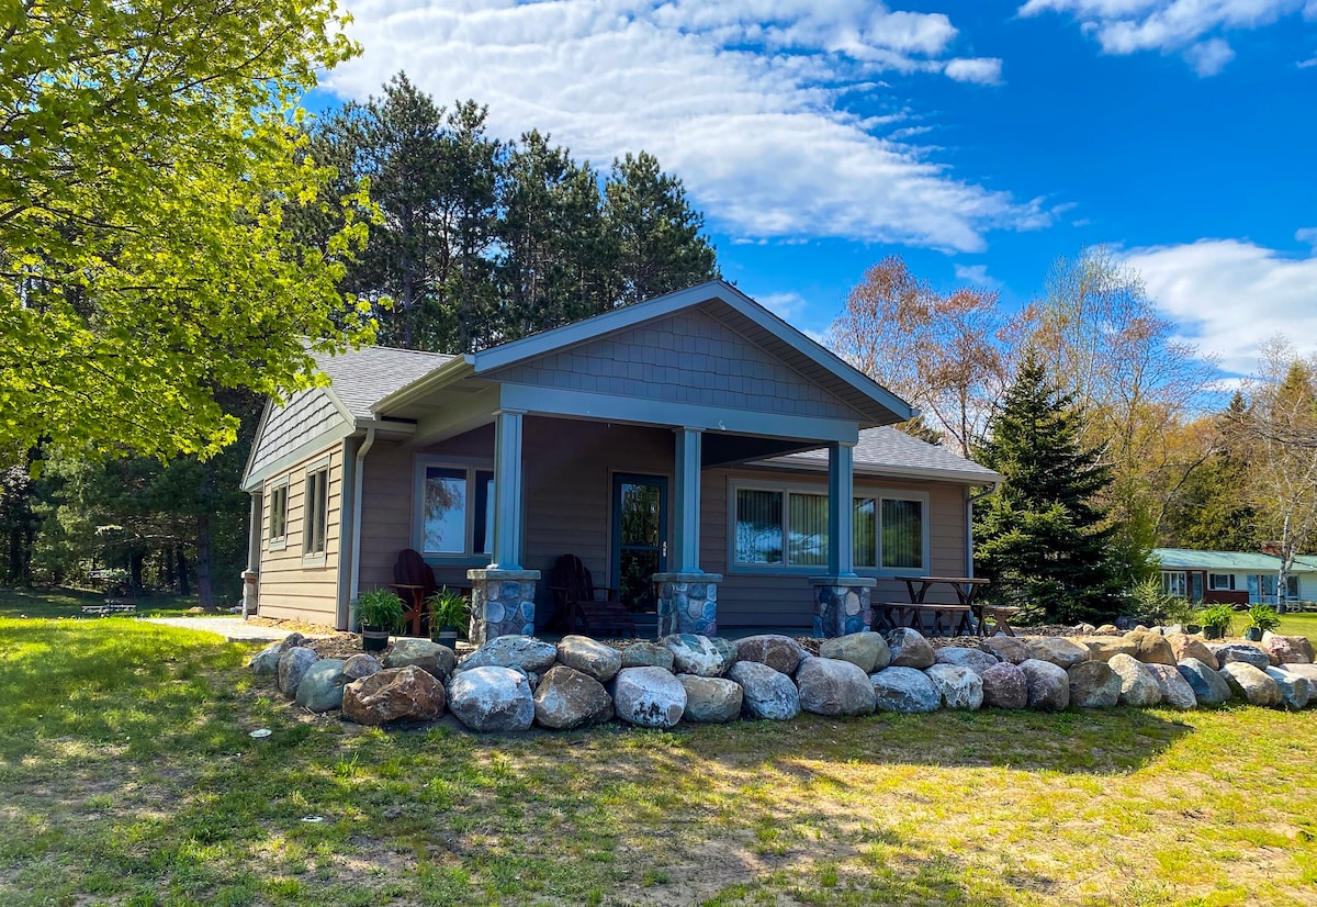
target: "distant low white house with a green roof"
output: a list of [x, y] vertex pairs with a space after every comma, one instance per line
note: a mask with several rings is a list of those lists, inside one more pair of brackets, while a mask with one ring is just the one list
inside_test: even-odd
[[[1154, 548], [1162, 567], [1162, 588], [1189, 601], [1230, 605], [1275, 605], [1280, 558], [1246, 551], [1195, 551]], [[1295, 559], [1289, 571], [1287, 601], [1317, 601], [1317, 564]]]

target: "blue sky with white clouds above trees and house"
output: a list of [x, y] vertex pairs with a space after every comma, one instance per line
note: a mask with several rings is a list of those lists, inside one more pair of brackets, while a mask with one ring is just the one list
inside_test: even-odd
[[319, 104], [404, 69], [499, 137], [651, 152], [723, 276], [811, 335], [889, 254], [1014, 310], [1105, 245], [1226, 376], [1277, 334], [1317, 352], [1317, 0], [348, 8], [363, 53]]

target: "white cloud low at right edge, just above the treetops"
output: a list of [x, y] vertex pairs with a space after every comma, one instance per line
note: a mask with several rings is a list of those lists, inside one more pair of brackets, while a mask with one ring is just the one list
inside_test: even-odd
[[1198, 240], [1135, 249], [1125, 261], [1184, 337], [1250, 374], [1263, 343], [1287, 335], [1303, 355], [1317, 352], [1317, 249], [1303, 258], [1243, 240]]

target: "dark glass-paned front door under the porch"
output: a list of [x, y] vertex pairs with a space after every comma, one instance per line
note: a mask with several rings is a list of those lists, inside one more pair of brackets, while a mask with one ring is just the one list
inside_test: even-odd
[[612, 477], [612, 576], [622, 604], [657, 610], [651, 576], [668, 570], [668, 479]]

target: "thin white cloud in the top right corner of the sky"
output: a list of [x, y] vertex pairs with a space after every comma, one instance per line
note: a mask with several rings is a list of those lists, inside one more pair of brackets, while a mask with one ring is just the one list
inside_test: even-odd
[[1317, 16], [1317, 0], [1027, 0], [1019, 15], [1068, 13], [1105, 53], [1179, 53], [1209, 76], [1234, 58], [1222, 33], [1271, 25], [1300, 11]]

